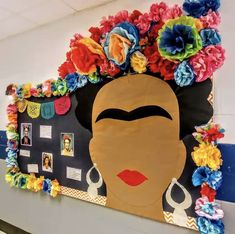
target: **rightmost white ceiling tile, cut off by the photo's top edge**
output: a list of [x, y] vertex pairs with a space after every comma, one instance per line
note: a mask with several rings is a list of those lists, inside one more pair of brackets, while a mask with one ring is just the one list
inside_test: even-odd
[[73, 9], [79, 11], [83, 10], [85, 8], [94, 7], [106, 2], [111, 2], [112, 0], [63, 0], [65, 3], [67, 3], [69, 6], [71, 6]]

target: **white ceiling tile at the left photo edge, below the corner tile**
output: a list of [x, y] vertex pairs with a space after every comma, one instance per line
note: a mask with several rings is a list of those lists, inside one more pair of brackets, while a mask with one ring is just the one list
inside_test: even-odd
[[0, 39], [30, 30], [34, 27], [36, 27], [35, 23], [15, 15], [0, 21]]

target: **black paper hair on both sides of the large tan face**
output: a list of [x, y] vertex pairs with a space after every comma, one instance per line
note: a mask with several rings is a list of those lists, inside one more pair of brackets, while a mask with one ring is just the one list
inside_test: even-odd
[[[152, 74], [151, 74], [152, 75]], [[158, 78], [156, 78], [158, 79]], [[106, 79], [98, 84], [87, 84], [76, 91], [76, 117], [80, 124], [92, 132], [92, 107], [99, 90], [112, 79]], [[180, 113], [180, 139], [194, 132], [195, 126], [206, 124], [213, 116], [213, 108], [207, 100], [212, 81], [207, 79], [191, 86], [179, 87], [174, 80], [166, 81], [178, 99]]]

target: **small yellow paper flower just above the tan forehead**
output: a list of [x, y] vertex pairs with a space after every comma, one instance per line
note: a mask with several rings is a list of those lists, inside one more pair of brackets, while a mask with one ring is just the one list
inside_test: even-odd
[[131, 56], [131, 66], [135, 72], [138, 73], [144, 73], [147, 70], [147, 64], [148, 60], [147, 58], [140, 53], [139, 51], [136, 51]]

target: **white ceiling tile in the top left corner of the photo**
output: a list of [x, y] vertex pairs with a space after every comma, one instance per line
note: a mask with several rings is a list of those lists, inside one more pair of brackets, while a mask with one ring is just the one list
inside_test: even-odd
[[10, 11], [20, 12], [42, 2], [45, 2], [45, 0], [0, 0], [0, 7]]

